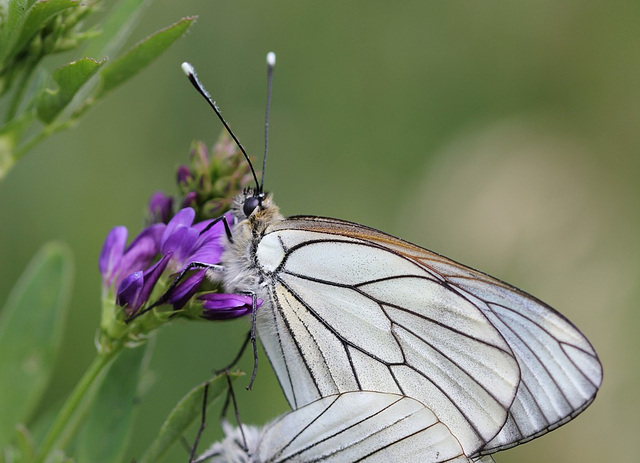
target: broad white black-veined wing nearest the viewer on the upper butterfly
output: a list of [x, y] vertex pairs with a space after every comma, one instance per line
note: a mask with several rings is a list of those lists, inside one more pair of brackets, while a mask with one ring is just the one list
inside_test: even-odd
[[259, 314], [258, 332], [293, 408], [354, 390], [408, 395], [467, 455], [503, 427], [518, 363], [483, 312], [443, 280], [346, 234], [278, 229], [256, 255], [273, 309]]

